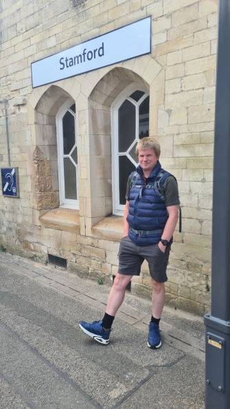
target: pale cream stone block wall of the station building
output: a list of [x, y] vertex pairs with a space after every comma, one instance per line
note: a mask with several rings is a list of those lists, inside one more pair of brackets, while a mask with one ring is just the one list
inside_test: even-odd
[[[203, 314], [210, 297], [217, 0], [3, 0], [0, 7], [0, 98], [8, 100], [10, 159], [20, 177], [19, 199], [0, 196], [0, 242], [43, 260], [47, 252], [65, 257], [72, 269], [111, 280], [122, 221], [106, 217], [110, 107], [136, 82], [150, 91], [150, 135], [161, 144], [161, 164], [179, 182], [183, 232], [174, 234], [167, 300]], [[152, 54], [32, 89], [34, 60], [148, 15]], [[59, 214], [50, 228], [49, 212], [59, 206], [55, 116], [67, 98], [77, 109], [79, 223], [70, 212], [66, 225]], [[2, 103], [0, 135], [0, 165], [8, 166]], [[146, 265], [132, 289], [149, 296]]]

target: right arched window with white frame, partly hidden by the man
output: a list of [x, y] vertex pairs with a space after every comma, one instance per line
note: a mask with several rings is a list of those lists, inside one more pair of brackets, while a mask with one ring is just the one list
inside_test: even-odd
[[111, 107], [113, 140], [113, 214], [122, 214], [126, 203], [128, 176], [137, 167], [137, 142], [149, 136], [149, 93], [130, 84]]

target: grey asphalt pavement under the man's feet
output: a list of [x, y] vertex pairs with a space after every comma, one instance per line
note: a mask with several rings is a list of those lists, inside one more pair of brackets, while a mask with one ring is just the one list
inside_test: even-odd
[[0, 254], [0, 409], [203, 409], [202, 318], [165, 307], [148, 349], [150, 302], [127, 294], [111, 343], [79, 320], [103, 316], [109, 287]]

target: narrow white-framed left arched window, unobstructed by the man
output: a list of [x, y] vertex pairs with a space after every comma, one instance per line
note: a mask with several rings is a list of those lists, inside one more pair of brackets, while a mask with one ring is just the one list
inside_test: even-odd
[[69, 98], [56, 115], [60, 207], [79, 208], [76, 107]]

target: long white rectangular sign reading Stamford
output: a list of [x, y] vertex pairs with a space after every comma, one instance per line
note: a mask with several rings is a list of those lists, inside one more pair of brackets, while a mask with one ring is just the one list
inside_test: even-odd
[[33, 88], [151, 52], [151, 16], [32, 63]]

